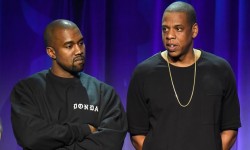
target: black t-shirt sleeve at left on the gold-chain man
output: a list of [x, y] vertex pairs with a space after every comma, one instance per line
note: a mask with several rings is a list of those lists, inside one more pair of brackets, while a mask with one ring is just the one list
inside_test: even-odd
[[149, 131], [149, 111], [143, 90], [144, 79], [139, 71], [137, 68], [134, 72], [127, 95], [128, 130], [131, 135], [146, 135]]

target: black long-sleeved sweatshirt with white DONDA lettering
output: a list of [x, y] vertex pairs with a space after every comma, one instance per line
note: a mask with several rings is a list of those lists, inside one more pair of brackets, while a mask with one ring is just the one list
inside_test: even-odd
[[[114, 89], [85, 73], [60, 78], [42, 71], [11, 93], [14, 134], [23, 149], [119, 150], [127, 120]], [[91, 133], [88, 124], [98, 129]]]

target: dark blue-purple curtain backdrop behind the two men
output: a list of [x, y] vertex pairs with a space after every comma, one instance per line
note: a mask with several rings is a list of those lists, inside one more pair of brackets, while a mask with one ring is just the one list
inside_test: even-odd
[[[139, 62], [163, 50], [161, 17], [172, 0], [0, 0], [1, 150], [19, 150], [10, 123], [13, 85], [47, 69], [43, 30], [65, 18], [82, 30], [87, 47], [85, 72], [113, 85], [126, 104], [131, 73]], [[235, 72], [243, 127], [234, 150], [250, 149], [250, 1], [187, 0], [198, 17], [195, 47], [227, 59]], [[125, 106], [126, 107], [126, 106]], [[124, 150], [132, 149], [126, 138]]]

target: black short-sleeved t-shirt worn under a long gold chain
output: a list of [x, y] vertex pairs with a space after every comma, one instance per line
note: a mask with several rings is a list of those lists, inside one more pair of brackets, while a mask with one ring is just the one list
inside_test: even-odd
[[[170, 66], [176, 92], [187, 104], [194, 65]], [[127, 99], [129, 132], [146, 135], [144, 150], [220, 150], [220, 132], [240, 127], [235, 80], [229, 64], [202, 51], [191, 103], [177, 102], [168, 66], [160, 53], [139, 64]]]

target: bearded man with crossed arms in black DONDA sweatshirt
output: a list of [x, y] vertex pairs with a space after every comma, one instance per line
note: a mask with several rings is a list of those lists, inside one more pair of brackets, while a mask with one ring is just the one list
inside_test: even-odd
[[119, 150], [127, 120], [114, 89], [83, 73], [85, 45], [77, 25], [55, 20], [44, 32], [49, 70], [11, 93], [15, 137], [24, 150]]

